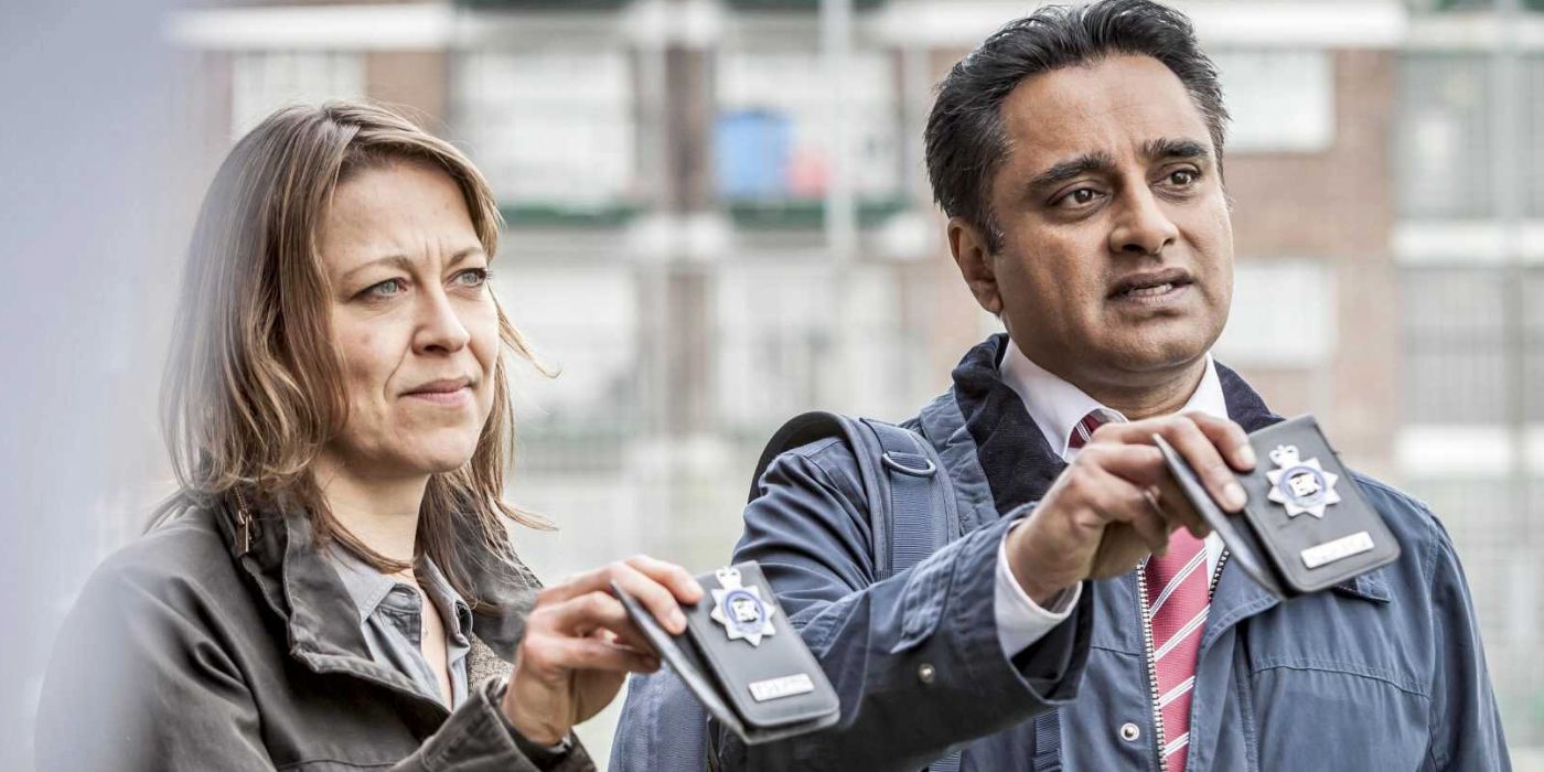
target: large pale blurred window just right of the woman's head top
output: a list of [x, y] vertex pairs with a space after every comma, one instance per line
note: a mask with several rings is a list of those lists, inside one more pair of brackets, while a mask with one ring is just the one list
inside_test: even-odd
[[474, 51], [454, 80], [460, 136], [506, 208], [604, 213], [635, 198], [625, 52]]

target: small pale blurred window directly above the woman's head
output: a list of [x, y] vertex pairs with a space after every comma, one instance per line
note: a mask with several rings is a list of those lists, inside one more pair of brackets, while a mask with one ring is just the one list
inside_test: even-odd
[[281, 107], [358, 99], [364, 59], [337, 51], [249, 51], [232, 56], [230, 127], [252, 131]]

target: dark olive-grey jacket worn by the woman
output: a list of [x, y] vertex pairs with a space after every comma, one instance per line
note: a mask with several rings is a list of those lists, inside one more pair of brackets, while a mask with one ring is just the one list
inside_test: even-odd
[[[449, 712], [372, 658], [304, 514], [259, 513], [239, 557], [233, 536], [229, 511], [195, 510], [97, 568], [43, 682], [39, 769], [543, 769], [499, 706], [536, 601], [523, 565], [474, 577], [489, 604], [472, 608], [469, 687]], [[547, 769], [593, 764], [574, 747]]]

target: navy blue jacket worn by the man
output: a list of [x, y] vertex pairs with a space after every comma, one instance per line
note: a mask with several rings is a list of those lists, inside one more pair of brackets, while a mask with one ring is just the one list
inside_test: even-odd
[[[1062, 769], [1158, 769], [1135, 571], [1089, 582], [1072, 618], [1013, 659], [999, 647], [997, 545], [1064, 468], [999, 378], [1005, 341], [971, 349], [954, 388], [908, 422], [943, 460], [967, 531], [913, 570], [875, 581], [845, 443], [787, 452], [763, 476], [733, 560], [761, 562], [840, 693], [841, 721], [749, 749], [718, 732], [724, 769], [914, 770], [962, 747], [962, 769], [1030, 769], [1030, 720], [1053, 709]], [[1251, 431], [1280, 420], [1235, 372], [1218, 374], [1231, 418]], [[1453, 543], [1422, 503], [1356, 479], [1402, 557], [1286, 602], [1224, 564], [1197, 661], [1189, 770], [1508, 769]], [[621, 757], [619, 769], [648, 767]]]

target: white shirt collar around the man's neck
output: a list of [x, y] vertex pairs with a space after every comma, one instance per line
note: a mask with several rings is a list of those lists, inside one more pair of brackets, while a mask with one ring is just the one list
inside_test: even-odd
[[[1064, 460], [1070, 460], [1072, 448], [1068, 442], [1072, 440], [1073, 428], [1084, 415], [1098, 411], [1104, 414], [1106, 422], [1126, 423], [1127, 420], [1119, 411], [1099, 405], [1098, 400], [1089, 397], [1082, 389], [1030, 361], [1011, 338], [1002, 355], [999, 371], [1002, 372], [1004, 383], [1024, 400], [1024, 409], [1028, 411], [1030, 418], [1034, 420], [1034, 426], [1045, 435], [1045, 442], [1051, 446], [1051, 451]], [[1223, 383], [1217, 375], [1217, 364], [1212, 361], [1210, 354], [1206, 355], [1206, 371], [1201, 374], [1201, 383], [1180, 412], [1204, 412], [1218, 418], [1227, 417]]]

